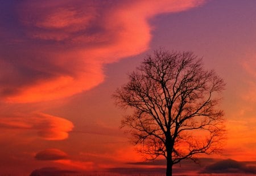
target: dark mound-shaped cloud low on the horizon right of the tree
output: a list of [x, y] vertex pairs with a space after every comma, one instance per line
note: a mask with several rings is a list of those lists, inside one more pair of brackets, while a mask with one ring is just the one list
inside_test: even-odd
[[249, 173], [256, 174], [256, 167], [247, 166], [245, 162], [221, 160], [207, 166], [202, 173]]

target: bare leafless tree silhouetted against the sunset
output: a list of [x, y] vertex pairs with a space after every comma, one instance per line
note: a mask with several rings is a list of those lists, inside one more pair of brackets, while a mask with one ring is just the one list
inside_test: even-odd
[[113, 95], [119, 107], [133, 110], [122, 126], [148, 160], [166, 158], [167, 176], [181, 160], [220, 150], [225, 129], [218, 105], [225, 83], [203, 68], [202, 59], [159, 49], [128, 76]]

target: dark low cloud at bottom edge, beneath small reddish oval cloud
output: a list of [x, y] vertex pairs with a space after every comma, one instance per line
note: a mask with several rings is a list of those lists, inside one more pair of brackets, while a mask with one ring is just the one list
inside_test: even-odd
[[62, 176], [62, 175], [77, 175], [79, 172], [74, 170], [64, 170], [59, 168], [41, 168], [32, 171], [30, 176]]

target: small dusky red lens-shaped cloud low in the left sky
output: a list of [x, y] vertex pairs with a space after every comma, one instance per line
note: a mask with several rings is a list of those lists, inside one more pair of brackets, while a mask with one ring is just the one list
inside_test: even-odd
[[35, 155], [36, 160], [64, 160], [67, 157], [67, 153], [55, 148], [46, 149]]

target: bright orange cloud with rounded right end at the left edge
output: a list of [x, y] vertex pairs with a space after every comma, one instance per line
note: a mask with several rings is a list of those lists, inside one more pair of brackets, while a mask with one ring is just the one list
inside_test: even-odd
[[1, 117], [0, 128], [36, 130], [38, 136], [45, 140], [64, 140], [72, 131], [73, 123], [53, 115], [35, 113]]

